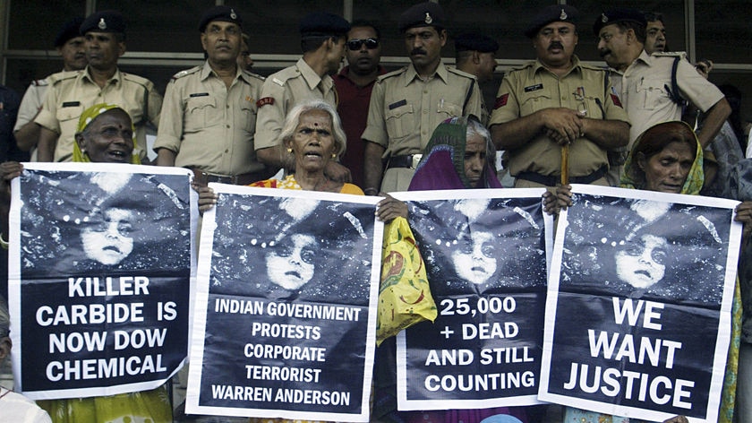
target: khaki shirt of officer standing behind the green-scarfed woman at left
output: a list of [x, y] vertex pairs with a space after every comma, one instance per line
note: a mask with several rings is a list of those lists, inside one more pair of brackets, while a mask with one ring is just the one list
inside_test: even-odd
[[146, 78], [116, 70], [104, 88], [99, 88], [89, 75], [89, 66], [82, 71], [54, 73], [48, 77], [49, 89], [42, 110], [34, 122], [59, 134], [55, 161], [71, 161], [73, 135], [81, 113], [98, 103], [116, 104], [131, 116], [136, 128], [138, 153], [146, 156], [146, 128], [159, 124], [162, 96]]

